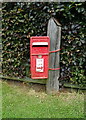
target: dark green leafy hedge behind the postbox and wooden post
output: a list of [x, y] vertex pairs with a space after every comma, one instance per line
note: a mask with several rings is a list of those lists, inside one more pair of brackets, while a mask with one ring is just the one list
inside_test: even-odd
[[62, 25], [60, 81], [85, 86], [85, 6], [76, 2], [3, 3], [3, 74], [30, 76], [30, 37], [46, 36], [53, 16]]

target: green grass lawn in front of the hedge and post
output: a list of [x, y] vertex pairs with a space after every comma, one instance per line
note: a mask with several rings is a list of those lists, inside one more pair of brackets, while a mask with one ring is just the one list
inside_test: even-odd
[[47, 95], [29, 86], [2, 82], [3, 118], [84, 118], [84, 94]]

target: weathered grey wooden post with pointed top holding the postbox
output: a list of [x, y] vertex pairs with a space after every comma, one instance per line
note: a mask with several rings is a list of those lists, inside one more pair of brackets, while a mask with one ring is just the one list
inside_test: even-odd
[[[60, 49], [61, 24], [55, 18], [51, 18], [48, 22], [47, 36], [50, 37], [50, 51]], [[59, 51], [50, 53], [49, 68], [59, 68], [59, 61]], [[49, 79], [46, 84], [48, 94], [54, 94], [59, 90], [59, 74], [60, 70], [49, 70]]]

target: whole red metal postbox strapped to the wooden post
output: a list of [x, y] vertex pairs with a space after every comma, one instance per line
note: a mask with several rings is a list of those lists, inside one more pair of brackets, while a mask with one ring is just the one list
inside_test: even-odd
[[48, 78], [50, 39], [48, 36], [30, 38], [31, 78]]

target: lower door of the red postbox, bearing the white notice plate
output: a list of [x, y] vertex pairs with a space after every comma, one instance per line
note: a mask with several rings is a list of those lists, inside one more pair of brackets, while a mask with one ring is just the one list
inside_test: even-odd
[[42, 55], [39, 58], [38, 55], [32, 56], [33, 64], [31, 65], [31, 78], [32, 79], [46, 79], [48, 78], [48, 56]]

